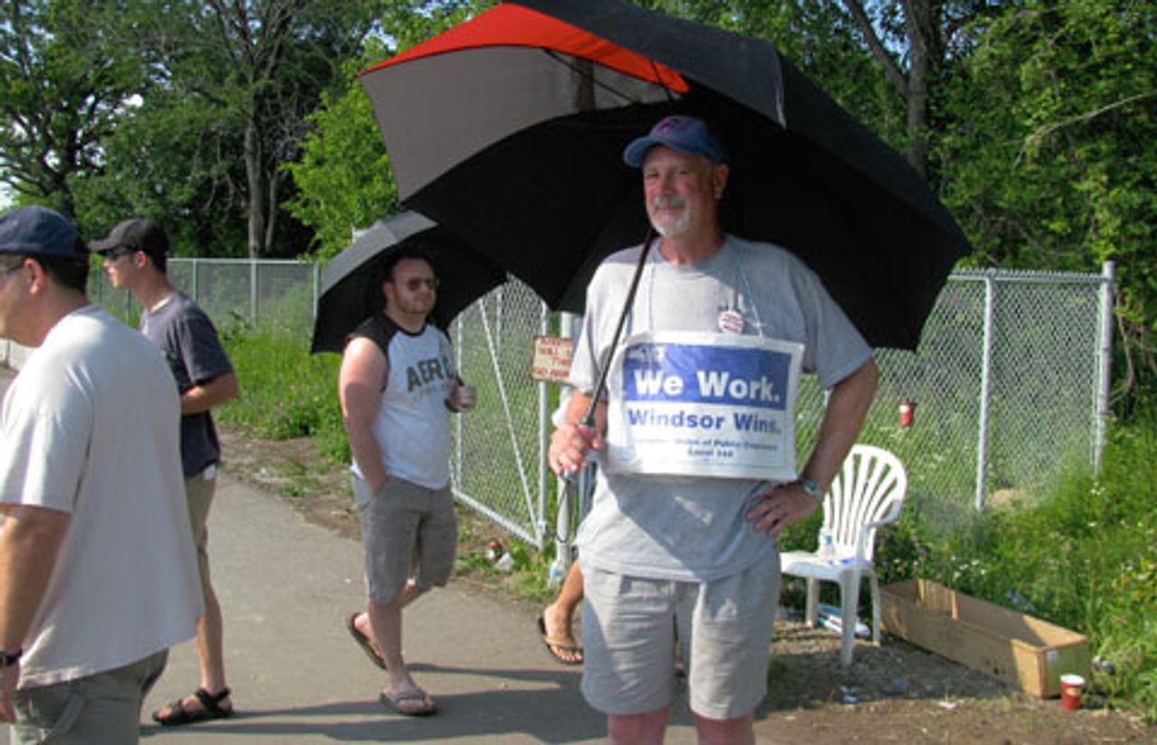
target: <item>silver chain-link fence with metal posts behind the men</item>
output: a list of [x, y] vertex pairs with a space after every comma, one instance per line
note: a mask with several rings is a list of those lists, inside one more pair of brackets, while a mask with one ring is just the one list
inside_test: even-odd
[[[219, 325], [229, 319], [308, 333], [318, 271], [296, 261], [170, 259], [174, 282]], [[135, 318], [127, 293], [94, 273], [94, 298]], [[896, 452], [909, 499], [943, 515], [1047, 489], [1067, 469], [1097, 469], [1107, 418], [1112, 265], [1096, 274], [956, 272], [915, 352], [880, 349], [879, 390], [860, 440]], [[557, 385], [529, 369], [537, 335], [559, 317], [511, 281], [451, 327], [463, 377], [479, 405], [456, 422], [454, 486], [471, 508], [539, 548], [553, 536], [553, 478], [545, 466]], [[915, 406], [900, 423], [901, 401]], [[797, 406], [801, 458], [823, 416], [806, 376]], [[565, 521], [563, 521], [565, 522]], [[566, 532], [566, 526], [560, 528]], [[548, 534], [550, 533], [550, 534]]]

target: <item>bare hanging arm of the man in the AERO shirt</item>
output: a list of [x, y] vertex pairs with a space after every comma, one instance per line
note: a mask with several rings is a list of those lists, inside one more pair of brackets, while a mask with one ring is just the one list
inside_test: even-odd
[[382, 404], [382, 389], [389, 372], [385, 355], [366, 338], [356, 338], [346, 346], [338, 372], [338, 398], [349, 449], [375, 492], [385, 484], [385, 467], [382, 465], [381, 447], [374, 436], [374, 419]]

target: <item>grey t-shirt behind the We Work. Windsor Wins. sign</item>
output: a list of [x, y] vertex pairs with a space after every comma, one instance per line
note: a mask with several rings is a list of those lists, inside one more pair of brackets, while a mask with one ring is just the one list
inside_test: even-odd
[[[570, 383], [590, 392], [639, 259], [640, 246], [607, 258], [587, 294]], [[742, 333], [798, 341], [803, 369], [831, 388], [871, 357], [871, 348], [819, 278], [788, 251], [727, 236], [695, 265], [672, 265], [651, 250], [622, 339], [639, 331], [720, 331], [720, 317], [743, 318]], [[620, 339], [620, 344], [622, 341]], [[594, 504], [580, 528], [584, 565], [629, 576], [710, 581], [773, 556], [776, 544], [745, 518], [749, 497], [766, 487], [740, 479], [638, 477], [600, 469]]]

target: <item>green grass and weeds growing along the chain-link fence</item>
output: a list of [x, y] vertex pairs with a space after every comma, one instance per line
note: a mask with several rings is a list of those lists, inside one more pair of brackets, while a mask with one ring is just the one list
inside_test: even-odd
[[[304, 334], [237, 324], [223, 335], [243, 394], [222, 407], [221, 419], [260, 437], [311, 437], [323, 455], [347, 463], [338, 356], [310, 356]], [[1066, 469], [1064, 453], [1031, 453], [1038, 462], [1052, 457], [1057, 478], [985, 512], [937, 500], [918, 485], [900, 521], [877, 537], [880, 580], [934, 580], [1088, 635], [1099, 661], [1091, 691], [1108, 706], [1157, 722], [1155, 452], [1157, 412], [1150, 412], [1112, 427], [1099, 478]], [[919, 463], [927, 460], [909, 466], [918, 470]], [[287, 495], [304, 497], [308, 490], [290, 488]], [[817, 516], [794, 525], [784, 548], [813, 547], [818, 523]], [[546, 583], [550, 551], [528, 548], [479, 517], [464, 518], [460, 533], [460, 573], [539, 602], [553, 595]], [[510, 571], [485, 556], [495, 538], [514, 558]]]

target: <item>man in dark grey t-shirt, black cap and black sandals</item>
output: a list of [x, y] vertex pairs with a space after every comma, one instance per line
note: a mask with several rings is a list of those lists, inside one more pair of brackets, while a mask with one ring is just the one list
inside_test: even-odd
[[178, 292], [165, 274], [169, 238], [152, 220], [125, 220], [91, 249], [104, 257], [109, 281], [130, 290], [145, 307], [140, 330], [164, 354], [180, 393], [180, 459], [197, 562], [205, 592], [205, 615], [197, 621], [200, 685], [192, 695], [155, 711], [162, 725], [191, 724], [233, 715], [224, 677], [221, 606], [209, 581], [209, 506], [221, 459], [209, 411], [237, 397], [237, 376], [213, 322]]

